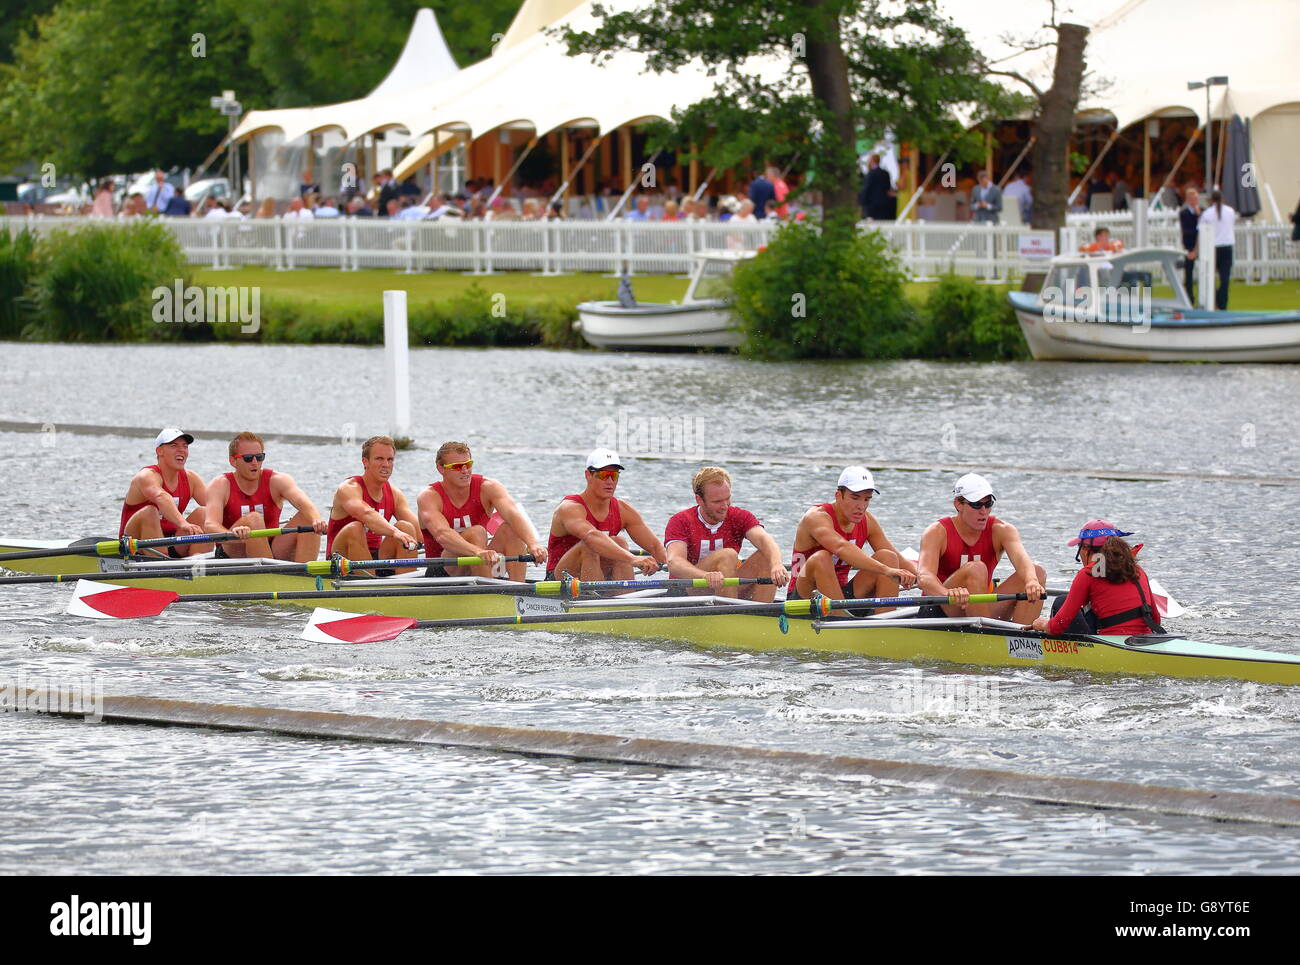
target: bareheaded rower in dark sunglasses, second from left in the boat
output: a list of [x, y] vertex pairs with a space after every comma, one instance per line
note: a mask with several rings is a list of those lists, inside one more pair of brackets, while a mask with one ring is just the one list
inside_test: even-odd
[[[204, 529], [209, 533], [247, 536], [250, 529], [276, 529], [280, 525], [309, 525], [313, 533], [281, 533], [273, 540], [230, 540], [217, 544], [217, 557], [264, 557], [307, 563], [320, 555], [325, 520], [320, 510], [298, 488], [294, 477], [264, 468], [266, 443], [261, 436], [240, 432], [230, 440], [230, 468], [208, 482]], [[298, 512], [287, 523], [280, 522], [285, 503]]]

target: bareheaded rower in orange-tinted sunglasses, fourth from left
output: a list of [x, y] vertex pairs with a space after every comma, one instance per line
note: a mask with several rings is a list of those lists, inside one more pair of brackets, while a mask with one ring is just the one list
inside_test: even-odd
[[519, 505], [494, 479], [473, 472], [474, 458], [464, 442], [443, 442], [436, 458], [441, 482], [420, 493], [416, 507], [425, 555], [480, 557], [482, 566], [430, 566], [426, 576], [508, 576], [523, 580], [526, 563], [500, 557], [530, 553], [546, 562], [537, 531]]

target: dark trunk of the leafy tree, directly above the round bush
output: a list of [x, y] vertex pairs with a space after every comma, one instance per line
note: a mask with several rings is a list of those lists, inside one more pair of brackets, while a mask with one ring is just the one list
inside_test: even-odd
[[[812, 96], [826, 104], [831, 125], [823, 130], [827, 147], [822, 157], [827, 169], [818, 170], [826, 228], [852, 230], [858, 220], [858, 151], [853, 130], [853, 95], [849, 91], [849, 61], [844, 56], [837, 5], [827, 0], [805, 0], [811, 13], [807, 35], [809, 79]], [[819, 159], [819, 164], [822, 160]]]

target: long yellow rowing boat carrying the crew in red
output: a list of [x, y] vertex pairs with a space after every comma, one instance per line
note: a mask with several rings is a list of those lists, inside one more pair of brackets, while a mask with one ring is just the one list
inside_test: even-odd
[[[0, 551], [57, 546], [31, 540], [0, 540]], [[177, 566], [176, 561], [122, 563], [98, 559], [73, 550], [65, 557], [10, 563], [12, 568], [35, 572], [101, 571], [103, 583], [174, 590], [182, 596], [198, 593], [302, 592], [346, 587], [452, 587], [464, 584], [511, 585], [506, 580], [480, 577], [377, 577], [334, 580], [283, 574], [222, 575], [233, 566], [247, 568], [247, 559], [194, 561], [194, 575], [185, 579], [142, 579], [142, 571]], [[273, 563], [274, 561], [264, 561]], [[40, 567], [40, 568], [38, 568]], [[280, 601], [296, 606], [317, 606], [318, 600]], [[737, 601], [722, 597], [668, 597], [662, 590], [646, 590], [614, 600], [584, 600], [564, 603], [558, 600], [516, 597], [506, 593], [477, 596], [361, 596], [332, 600], [326, 605], [347, 613], [374, 613], [417, 620], [476, 616], [511, 616], [536, 613], [588, 614], [601, 609], [664, 606], [728, 606]], [[526, 624], [519, 628], [528, 628]], [[545, 629], [572, 633], [608, 633], [637, 639], [671, 640], [694, 646], [732, 650], [801, 650], [857, 654], [862, 657], [948, 662], [978, 667], [1031, 667], [1095, 674], [1139, 674], [1176, 678], [1225, 678], [1271, 684], [1300, 684], [1300, 655], [1227, 646], [1184, 639], [1117, 637], [1092, 635], [1048, 636], [1017, 624], [987, 618], [922, 619], [906, 610], [864, 619], [780, 619], [770, 615], [719, 613], [675, 619], [584, 619], [549, 623]]]

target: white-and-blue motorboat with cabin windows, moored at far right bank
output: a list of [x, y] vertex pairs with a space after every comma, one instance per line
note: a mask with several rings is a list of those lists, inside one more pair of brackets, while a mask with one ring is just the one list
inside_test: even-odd
[[1035, 359], [1300, 362], [1300, 310], [1192, 306], [1176, 248], [1083, 251], [1052, 259], [1037, 293], [1011, 306]]

